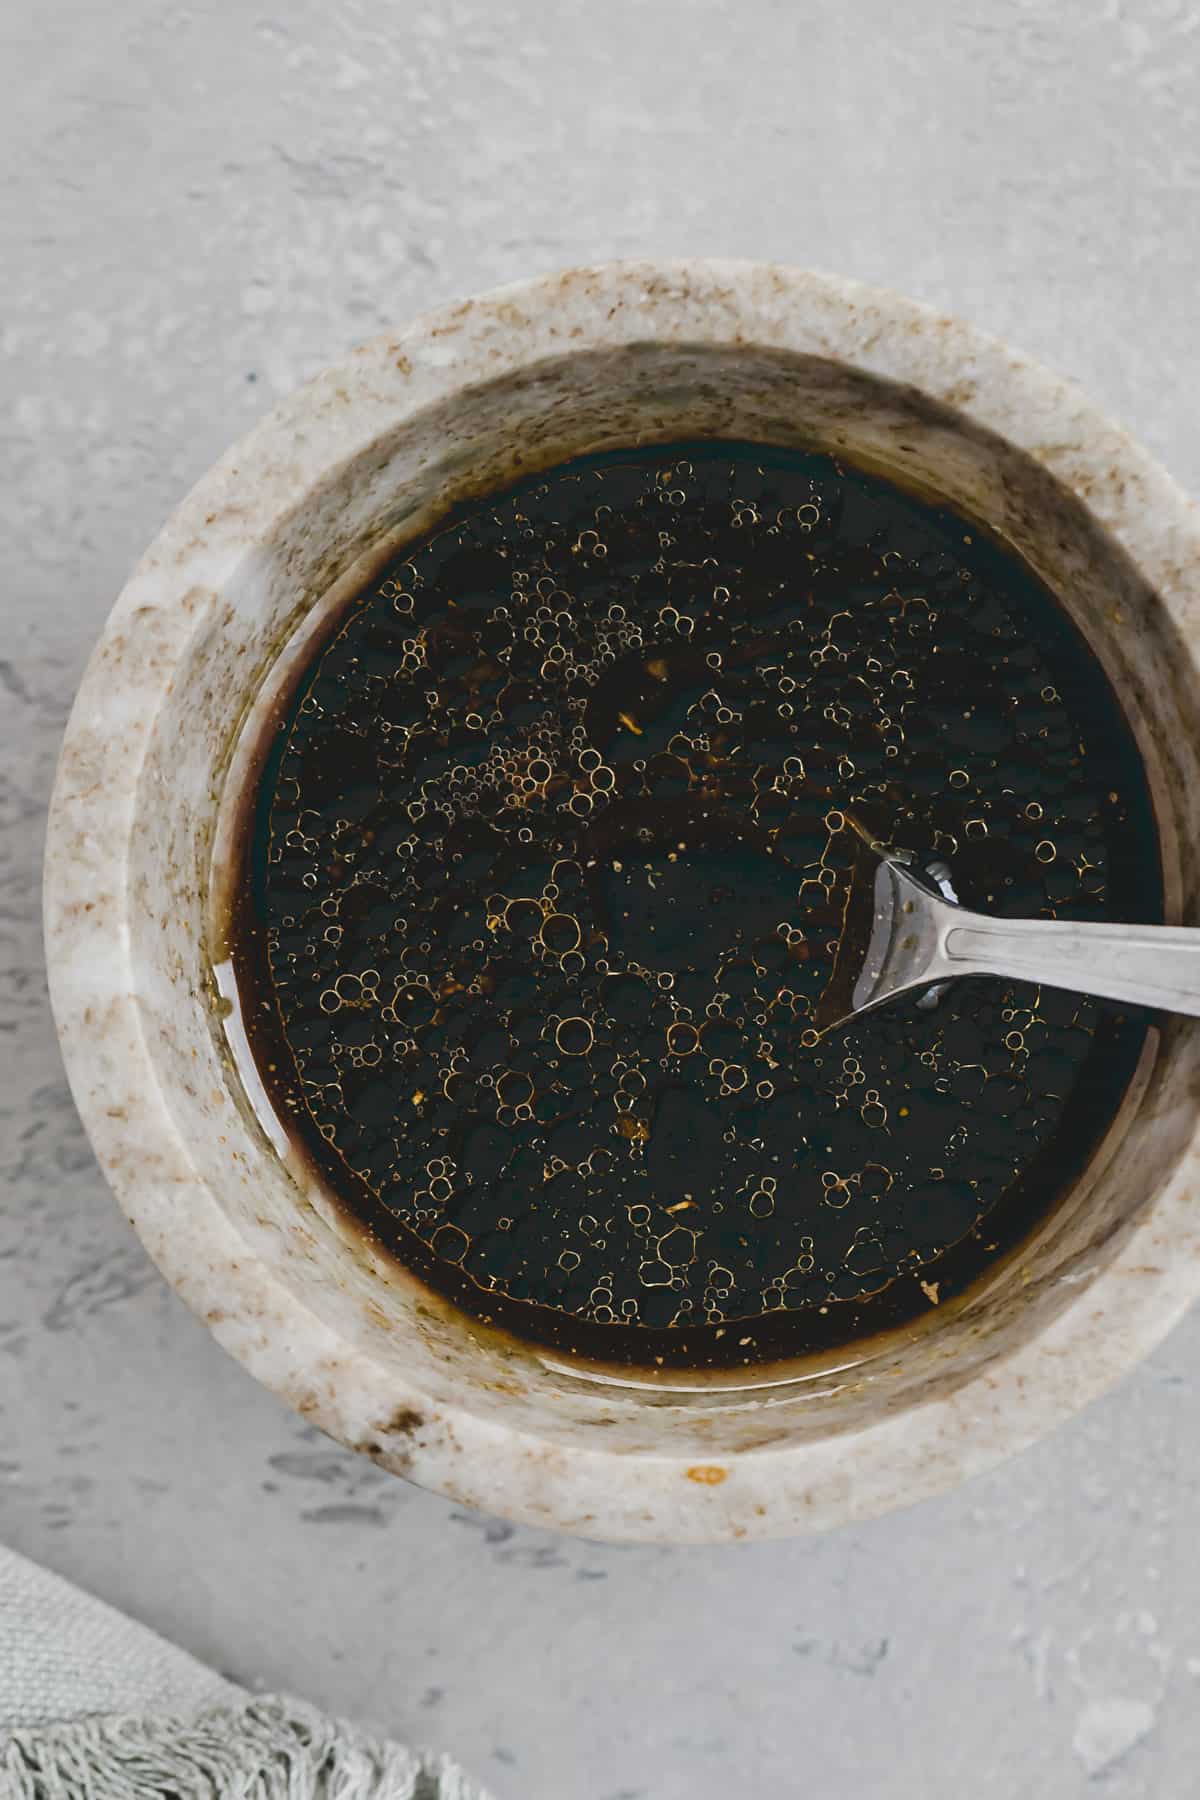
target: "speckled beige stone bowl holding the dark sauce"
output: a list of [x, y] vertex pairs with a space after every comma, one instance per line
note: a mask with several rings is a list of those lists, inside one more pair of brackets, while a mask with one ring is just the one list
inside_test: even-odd
[[[923, 1328], [754, 1386], [635, 1386], [493, 1339], [272, 1145], [212, 1006], [223, 797], [281, 646], [453, 500], [635, 439], [842, 450], [1006, 533], [1072, 610], [1151, 776], [1169, 918], [1200, 913], [1200, 526], [1069, 385], [894, 293], [738, 263], [572, 270], [376, 338], [205, 475], [137, 567], [67, 729], [54, 1012], [97, 1156], [169, 1282], [344, 1444], [588, 1537], [860, 1519], [986, 1469], [1200, 1287], [1200, 1028], [1153, 1031], [1092, 1165]], [[842, 1366], [835, 1366], [840, 1363]]]

